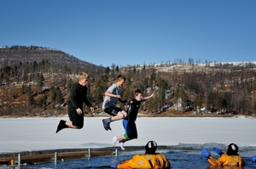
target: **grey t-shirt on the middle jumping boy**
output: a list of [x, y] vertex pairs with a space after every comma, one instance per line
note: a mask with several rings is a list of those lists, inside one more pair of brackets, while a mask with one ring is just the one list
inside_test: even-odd
[[[107, 90], [109, 93], [113, 93], [115, 95], [120, 95], [121, 88], [117, 86], [115, 83], [111, 87], [108, 87]], [[119, 99], [109, 96], [104, 96], [104, 101], [102, 104], [102, 110], [105, 110], [108, 107], [116, 107], [116, 104], [118, 103]]]

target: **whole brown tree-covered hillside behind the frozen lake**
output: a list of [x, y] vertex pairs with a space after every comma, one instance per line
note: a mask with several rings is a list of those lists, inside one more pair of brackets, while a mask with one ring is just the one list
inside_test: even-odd
[[34, 46], [0, 48], [0, 58], [1, 116], [67, 115], [70, 89], [81, 71], [90, 76], [88, 98], [96, 108], [94, 115], [106, 115], [101, 113], [103, 93], [119, 74], [126, 76], [123, 99], [131, 99], [136, 88], [144, 95], [157, 92], [141, 106], [142, 116], [254, 115], [256, 110], [254, 62], [104, 68]]

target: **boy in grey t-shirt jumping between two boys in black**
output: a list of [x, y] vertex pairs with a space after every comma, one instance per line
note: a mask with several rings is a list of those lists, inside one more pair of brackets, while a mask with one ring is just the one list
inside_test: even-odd
[[103, 119], [103, 127], [105, 130], [111, 130], [110, 122], [119, 121], [124, 119], [127, 116], [125, 110], [121, 110], [116, 104], [119, 102], [129, 104], [129, 101], [122, 100], [120, 93], [121, 87], [123, 87], [125, 83], [125, 76], [119, 75], [116, 78], [116, 82], [113, 83], [111, 87], [108, 87], [108, 90], [105, 92], [104, 101], [102, 104], [102, 110], [104, 110], [108, 115], [112, 115], [107, 119]]

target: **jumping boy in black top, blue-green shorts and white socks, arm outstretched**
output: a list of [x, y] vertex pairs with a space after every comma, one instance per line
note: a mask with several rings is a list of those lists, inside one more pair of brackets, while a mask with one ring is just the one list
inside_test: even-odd
[[150, 96], [143, 98], [143, 92], [140, 89], [137, 89], [134, 92], [134, 99], [131, 100], [131, 104], [129, 104], [128, 110], [127, 110], [127, 116], [123, 120], [123, 126], [125, 128], [125, 134], [113, 137], [113, 147], [115, 146], [116, 142], [119, 140], [119, 144], [121, 146], [121, 149], [124, 148], [124, 143], [126, 141], [129, 141], [131, 139], [137, 138], [137, 127], [135, 124], [135, 121], [137, 119], [137, 112], [140, 108], [141, 103], [144, 100], [150, 99], [154, 96], [154, 93], [152, 93]]

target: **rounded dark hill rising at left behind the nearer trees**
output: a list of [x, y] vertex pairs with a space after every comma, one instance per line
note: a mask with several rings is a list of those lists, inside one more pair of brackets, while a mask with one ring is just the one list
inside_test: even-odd
[[57, 49], [38, 46], [11, 46], [0, 48], [0, 70], [3, 73], [19, 70], [24, 73], [98, 74], [105, 70], [100, 65], [75, 58]]

